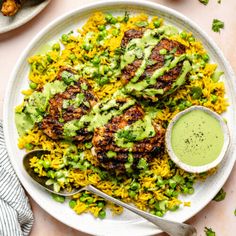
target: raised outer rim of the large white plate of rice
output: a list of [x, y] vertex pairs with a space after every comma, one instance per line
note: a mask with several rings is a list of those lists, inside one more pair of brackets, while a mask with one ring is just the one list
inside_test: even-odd
[[[227, 73], [230, 75], [230, 85], [232, 86], [232, 90], [235, 90], [236, 88], [236, 77], [234, 74], [234, 71], [230, 65], [230, 63], [228, 62], [228, 60], [224, 57], [223, 52], [220, 50], [220, 48], [217, 46], [217, 44], [211, 39], [211, 37], [205, 33], [204, 30], [202, 30], [200, 28], [200, 26], [198, 26], [193, 20], [189, 19], [188, 17], [186, 17], [185, 15], [183, 15], [182, 13], [166, 7], [164, 5], [155, 3], [155, 2], [149, 2], [149, 1], [135, 1], [135, 0], [120, 0], [120, 1], [116, 1], [116, 0], [107, 0], [107, 1], [97, 1], [97, 2], [93, 2], [93, 3], [89, 3], [89, 4], [85, 4], [81, 7], [78, 7], [74, 10], [68, 11], [66, 13], [64, 13], [63, 15], [57, 17], [56, 19], [54, 19], [51, 23], [49, 23], [47, 26], [45, 26], [34, 38], [33, 40], [30, 41], [30, 43], [28, 44], [28, 46], [23, 50], [23, 52], [21, 53], [16, 65], [14, 66], [14, 69], [10, 75], [10, 79], [8, 81], [7, 84], [7, 88], [6, 88], [6, 92], [5, 92], [5, 96], [4, 96], [4, 107], [3, 107], [3, 129], [4, 129], [4, 136], [5, 136], [5, 141], [6, 141], [6, 147], [9, 153], [9, 157], [12, 163], [12, 158], [14, 156], [14, 152], [11, 151], [11, 141], [10, 141], [10, 137], [9, 137], [9, 131], [8, 131], [8, 103], [10, 101], [10, 92], [12, 90], [12, 86], [13, 86], [13, 82], [16, 78], [16, 74], [17, 74], [17, 70], [20, 67], [20, 65], [22, 64], [23, 58], [30, 52], [30, 50], [32, 50], [33, 46], [44, 36], [45, 33], [47, 33], [51, 28], [53, 28], [53, 26], [57, 25], [59, 22], [62, 22], [63, 19], [67, 19], [70, 16], [73, 16], [74, 14], [78, 14], [80, 11], [83, 12], [88, 12], [91, 11], [92, 9], [96, 8], [96, 7], [112, 7], [114, 5], [117, 4], [121, 4], [121, 5], [133, 5], [133, 6], [139, 6], [139, 7], [145, 7], [145, 8], [149, 8], [149, 9], [153, 9], [155, 10], [159, 10], [162, 12], [165, 12], [169, 15], [174, 15], [175, 17], [183, 20], [184, 22], [187, 23], [187, 25], [189, 25], [190, 27], [194, 28], [200, 35], [201, 37], [204, 38], [204, 40], [206, 40], [206, 42], [212, 47], [212, 49], [218, 54], [218, 57], [220, 58], [222, 64], [224, 65], [224, 67], [226, 68]], [[233, 83], [234, 81], [234, 83]], [[236, 94], [231, 94], [233, 96], [232, 100], [234, 99], [234, 101], [236, 101]], [[234, 115], [234, 121], [235, 121], [235, 115]], [[235, 136], [235, 135], [234, 135]], [[233, 138], [232, 138], [233, 139]], [[235, 138], [234, 138], [235, 139]], [[236, 146], [236, 140], [234, 140], [231, 143], [231, 148]], [[226, 180], [228, 179], [230, 173], [232, 172], [232, 169], [234, 167], [234, 163], [236, 160], [236, 155], [234, 155], [232, 158], [232, 161], [230, 162], [231, 165], [229, 166], [229, 171], [227, 174], [224, 174], [223, 178], [221, 179], [220, 183], [218, 183], [217, 188], [215, 189], [215, 191], [213, 191], [213, 193], [217, 193], [219, 191], [219, 189], [224, 185], [224, 183], [226, 182]], [[18, 173], [16, 167], [13, 165], [13, 168], [18, 176], [18, 178], [20, 179], [21, 184], [25, 187], [25, 189], [27, 190], [27, 192], [30, 192], [28, 189], [28, 184], [24, 183], [24, 181], [22, 181], [23, 176], [21, 175], [21, 173]], [[214, 197], [212, 193], [212, 198]], [[73, 225], [70, 225], [68, 223], [65, 223], [62, 221], [62, 219], [58, 216], [53, 215], [52, 212], [50, 212], [48, 209], [46, 209], [46, 207], [43, 206], [43, 204], [34, 196], [32, 196], [34, 194], [30, 193], [30, 196], [34, 199], [34, 201], [37, 202], [37, 204], [39, 204], [39, 206], [41, 208], [43, 208], [48, 214], [50, 214], [52, 217], [56, 218], [57, 220], [59, 220], [60, 222], [75, 228]], [[206, 201], [205, 204], [203, 204], [201, 207], [198, 207], [198, 209], [195, 212], [191, 212], [191, 214], [188, 214], [187, 217], [184, 218], [183, 221], [186, 221], [188, 219], [190, 219], [191, 217], [193, 217], [194, 215], [196, 215], [198, 212], [200, 212], [200, 210], [202, 210], [209, 202]], [[84, 231], [82, 229], [78, 229], [75, 228], [76, 230], [80, 230], [81, 232], [84, 233], [91, 233], [88, 231]], [[160, 233], [161, 231], [159, 231], [158, 228], [156, 228], [157, 231], [155, 233]]]

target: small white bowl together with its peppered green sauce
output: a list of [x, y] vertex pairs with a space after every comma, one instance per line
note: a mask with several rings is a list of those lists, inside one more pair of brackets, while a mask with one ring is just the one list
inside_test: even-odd
[[170, 158], [189, 172], [204, 172], [218, 165], [228, 145], [229, 132], [224, 120], [201, 106], [177, 114], [166, 132]]

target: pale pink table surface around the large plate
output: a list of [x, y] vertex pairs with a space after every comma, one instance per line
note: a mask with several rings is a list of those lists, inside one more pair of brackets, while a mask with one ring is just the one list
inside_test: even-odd
[[[49, 6], [31, 22], [14, 31], [0, 35], [0, 118], [2, 118], [3, 112], [4, 92], [12, 67], [14, 67], [27, 44], [42, 28], [58, 16], [83, 4], [95, 1], [52, 0]], [[154, 0], [154, 2], [171, 7], [200, 25], [222, 49], [233, 69], [236, 69], [235, 0], [222, 0], [221, 4], [217, 4], [217, 0], [210, 0], [208, 6], [200, 4], [198, 0]], [[225, 29], [221, 33], [214, 33], [211, 30], [211, 22], [214, 18], [222, 19], [225, 22]], [[236, 166], [224, 186], [224, 190], [227, 192], [225, 200], [221, 202], [211, 201], [201, 212], [188, 221], [197, 228], [198, 235], [205, 235], [205, 226], [212, 227], [217, 236], [236, 235], [236, 216], [234, 216], [234, 210], [236, 209], [235, 184]], [[30, 198], [30, 201], [35, 217], [31, 236], [87, 235], [58, 222], [41, 209], [33, 199]]]

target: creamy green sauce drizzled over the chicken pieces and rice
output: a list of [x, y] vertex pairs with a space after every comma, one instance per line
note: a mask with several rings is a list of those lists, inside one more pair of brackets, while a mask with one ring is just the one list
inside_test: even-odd
[[[160, 42], [164, 37], [171, 36], [178, 33], [176, 29], [172, 26], [162, 26], [158, 29], [147, 29], [142, 38], [132, 39], [126, 49], [123, 56], [120, 58], [119, 71], [125, 68], [128, 64], [131, 64], [136, 59], [142, 59], [140, 67], [137, 69], [134, 77], [131, 81], [121, 90], [114, 94], [110, 101], [101, 101], [95, 105], [89, 114], [82, 116], [80, 119], [72, 120], [63, 126], [63, 133], [65, 137], [73, 137], [77, 135], [77, 131], [86, 127], [88, 131], [94, 131], [95, 128], [104, 126], [113, 117], [118, 116], [135, 104], [135, 99], [128, 99], [125, 104], [119, 104], [116, 101], [116, 97], [122, 95], [127, 97], [125, 94], [135, 94], [136, 96], [147, 95], [165, 95], [163, 89], [155, 89], [149, 86], [155, 85], [160, 76], [174, 68], [180, 61], [184, 61], [182, 72], [176, 82], [173, 84], [170, 91], [174, 91], [179, 86], [185, 82], [185, 77], [187, 73], [191, 70], [191, 65], [187, 59], [187, 55], [181, 55], [168, 60], [166, 64], [154, 71], [150, 78], [146, 78], [143, 81], [137, 82], [140, 76], [144, 73], [147, 65], [150, 63], [150, 55], [153, 48]], [[89, 35], [88, 35], [89, 37]], [[83, 65], [84, 72], [88, 74], [95, 72], [87, 64]], [[78, 71], [82, 68], [77, 68]], [[86, 70], [85, 70], [86, 69]], [[94, 68], [93, 68], [94, 69]], [[78, 75], [70, 74], [69, 72], [64, 72], [62, 75], [62, 81], [54, 81], [47, 83], [44, 86], [42, 92], [34, 92], [30, 97], [25, 100], [24, 108], [22, 112], [17, 112], [15, 115], [15, 122], [17, 125], [18, 132], [20, 136], [27, 133], [34, 127], [35, 123], [42, 121], [43, 116], [47, 112], [49, 100], [57, 93], [62, 93], [66, 90], [67, 86], [78, 80]], [[168, 92], [169, 94], [170, 92]], [[74, 100], [64, 100], [63, 108], [66, 109], [69, 106], [79, 107], [81, 104], [90, 107], [90, 104], [84, 99], [84, 94], [77, 94]], [[122, 147], [131, 147], [134, 141], [140, 141], [145, 138], [150, 138], [155, 135], [155, 130], [151, 124], [151, 118], [145, 116], [144, 120], [138, 121], [133, 125], [125, 128], [125, 130], [120, 130], [117, 136], [122, 133], [128, 134], [127, 137], [123, 135], [122, 138], [117, 139], [117, 145]], [[122, 135], [121, 135], [122, 136]], [[131, 138], [133, 140], [129, 140]]]

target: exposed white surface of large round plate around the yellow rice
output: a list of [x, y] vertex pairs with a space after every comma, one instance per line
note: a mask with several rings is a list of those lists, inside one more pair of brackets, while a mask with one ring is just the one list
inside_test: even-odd
[[4, 104], [4, 134], [14, 169], [21, 183], [33, 199], [44, 210], [59, 221], [75, 229], [94, 235], [153, 235], [159, 233], [160, 230], [142, 218], [127, 211], [120, 216], [112, 216], [108, 214], [108, 217], [105, 220], [100, 220], [95, 219], [90, 214], [78, 216], [68, 207], [67, 204], [60, 204], [53, 201], [47, 192], [42, 191], [41, 188], [38, 188], [32, 182], [23, 169], [22, 156], [24, 155], [24, 151], [19, 150], [17, 147], [18, 135], [14, 123], [14, 107], [21, 103], [23, 96], [20, 91], [27, 87], [27, 75], [29, 72], [27, 58], [29, 56], [40, 50], [42, 45], [59, 38], [61, 34], [67, 33], [70, 30], [81, 26], [95, 11], [124, 14], [127, 10], [131, 13], [144, 12], [149, 15], [158, 15], [164, 18], [166, 23], [193, 32], [196, 38], [203, 42], [212, 60], [219, 65], [219, 69], [225, 72], [224, 80], [227, 97], [229, 98], [230, 103], [227, 113], [224, 114], [228, 121], [231, 135], [229, 152], [227, 153], [227, 156], [218, 172], [214, 176], [209, 177], [205, 183], [198, 183], [196, 185], [195, 193], [184, 198], [184, 200], [192, 202], [191, 207], [181, 208], [177, 212], [170, 212], [166, 214], [165, 217], [182, 222], [199, 212], [209, 201], [211, 201], [218, 190], [223, 186], [232, 170], [236, 157], [234, 149], [236, 144], [235, 76], [222, 52], [196, 24], [174, 10], [145, 1], [103, 1], [87, 5], [60, 17], [35, 37], [24, 51], [13, 70], [6, 91]]

